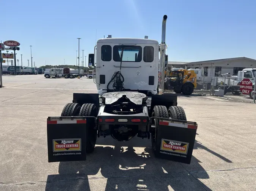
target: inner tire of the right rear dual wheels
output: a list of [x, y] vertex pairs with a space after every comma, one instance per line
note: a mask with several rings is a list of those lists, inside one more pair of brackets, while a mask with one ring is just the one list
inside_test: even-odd
[[[152, 111], [152, 117], [169, 118], [167, 108], [162, 105], [154, 106], [153, 111]], [[159, 121], [158, 119], [153, 119], [152, 125], [155, 125], [155, 122], [158, 122], [158, 121]], [[151, 132], [151, 144], [152, 144], [153, 152], [154, 152], [154, 154], [156, 154], [156, 140], [157, 140], [157, 132], [158, 132], [157, 125], [155, 125], [154, 130], [155, 131]]]

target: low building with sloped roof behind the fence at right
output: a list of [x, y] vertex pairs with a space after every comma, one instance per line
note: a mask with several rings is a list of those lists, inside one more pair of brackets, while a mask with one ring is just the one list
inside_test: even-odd
[[237, 75], [237, 72], [244, 68], [256, 68], [256, 60], [237, 57], [200, 62], [168, 62], [168, 69], [171, 70], [171, 68], [201, 69], [204, 76], [212, 77], [228, 72], [230, 75]]

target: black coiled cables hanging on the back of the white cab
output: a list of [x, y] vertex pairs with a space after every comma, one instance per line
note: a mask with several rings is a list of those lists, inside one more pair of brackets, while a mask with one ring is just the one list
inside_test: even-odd
[[107, 85], [107, 90], [108, 89], [108, 86], [110, 85], [111, 82], [113, 82], [113, 89], [114, 91], [125, 91], [124, 89], [124, 76], [121, 74], [121, 67], [122, 67], [122, 60], [123, 60], [123, 53], [124, 53], [124, 48], [122, 46], [122, 51], [121, 51], [121, 62], [120, 62], [120, 69], [119, 71], [116, 71], [111, 80], [108, 82], [108, 85]]

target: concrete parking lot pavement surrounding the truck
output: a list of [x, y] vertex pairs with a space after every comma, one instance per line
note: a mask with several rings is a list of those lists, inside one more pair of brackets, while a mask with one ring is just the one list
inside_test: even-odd
[[74, 92], [97, 92], [93, 79], [3, 76], [0, 88], [0, 190], [256, 190], [256, 105], [179, 96], [198, 130], [190, 165], [157, 159], [151, 140], [97, 139], [82, 162], [48, 163], [46, 119]]

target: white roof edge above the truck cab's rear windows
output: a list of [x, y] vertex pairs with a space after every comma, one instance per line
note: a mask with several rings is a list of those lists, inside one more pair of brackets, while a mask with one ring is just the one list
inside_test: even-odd
[[133, 38], [106, 38], [99, 39], [97, 43], [124, 43], [124, 44], [156, 44], [159, 45], [157, 40], [152, 39], [133, 39]]

